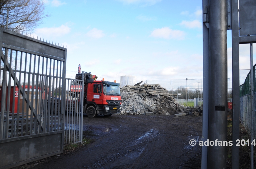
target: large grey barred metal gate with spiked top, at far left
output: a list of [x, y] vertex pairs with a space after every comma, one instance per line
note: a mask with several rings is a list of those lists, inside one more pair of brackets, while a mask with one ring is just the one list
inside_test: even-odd
[[62, 153], [67, 49], [2, 28], [0, 45], [0, 168]]

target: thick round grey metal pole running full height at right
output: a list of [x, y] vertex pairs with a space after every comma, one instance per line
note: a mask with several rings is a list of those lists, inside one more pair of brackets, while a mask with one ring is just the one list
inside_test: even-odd
[[[208, 139], [227, 140], [227, 2], [209, 0]], [[227, 146], [208, 146], [207, 168], [226, 168]]]

